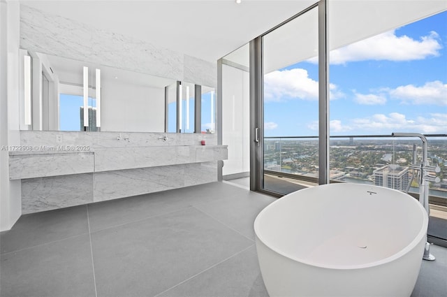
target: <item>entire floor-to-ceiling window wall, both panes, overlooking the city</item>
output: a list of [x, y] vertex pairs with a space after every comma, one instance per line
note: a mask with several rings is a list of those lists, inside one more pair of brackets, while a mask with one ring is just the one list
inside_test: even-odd
[[[418, 196], [418, 172], [412, 167], [420, 164], [420, 140], [391, 134], [421, 133], [429, 141], [431, 215], [442, 219], [447, 205], [446, 4], [406, 1], [403, 8], [399, 1], [323, 2], [329, 4], [330, 68], [323, 70], [326, 77], [330, 73], [329, 101], [318, 94], [323, 85], [318, 82], [323, 39], [318, 7], [261, 36], [262, 76], [251, 85], [252, 99], [262, 98], [256, 115], [262, 124], [251, 126], [262, 126], [262, 182], [256, 189], [287, 194], [321, 183], [323, 172], [333, 182], [378, 184]], [[258, 44], [259, 38], [254, 48]], [[257, 73], [256, 66], [251, 70]], [[318, 97], [327, 110], [318, 106]], [[322, 132], [322, 111], [330, 115], [330, 132]], [[321, 139], [328, 135], [330, 157], [319, 156]], [[328, 167], [321, 167], [322, 158], [330, 161]]]

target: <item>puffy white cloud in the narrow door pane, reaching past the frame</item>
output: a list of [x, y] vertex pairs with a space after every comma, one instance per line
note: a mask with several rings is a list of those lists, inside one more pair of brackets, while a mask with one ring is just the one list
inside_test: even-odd
[[[344, 96], [336, 85], [330, 84], [330, 99]], [[302, 99], [318, 101], [318, 81], [309, 78], [307, 70], [293, 68], [273, 71], [264, 77], [265, 101], [286, 101]]]

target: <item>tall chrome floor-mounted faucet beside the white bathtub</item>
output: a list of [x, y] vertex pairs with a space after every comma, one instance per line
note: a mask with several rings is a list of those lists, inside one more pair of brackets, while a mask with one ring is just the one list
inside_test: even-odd
[[[422, 160], [420, 161], [420, 166], [416, 165], [416, 146], [413, 146], [413, 161], [410, 168], [413, 170], [419, 171], [419, 202], [424, 206], [427, 211], [427, 215], [430, 217], [430, 205], [428, 205], [428, 191], [429, 191], [429, 182], [440, 182], [440, 179], [437, 176], [430, 175], [430, 172], [439, 173], [441, 168], [439, 166], [430, 166], [428, 164], [428, 154], [427, 154], [427, 138], [423, 134], [420, 133], [392, 133], [391, 136], [395, 137], [418, 137], [422, 141]], [[411, 181], [409, 182], [409, 186], [406, 191], [409, 191], [411, 185]], [[432, 254], [430, 254], [430, 243], [425, 243], [424, 249], [424, 260], [434, 261], [436, 259]]]

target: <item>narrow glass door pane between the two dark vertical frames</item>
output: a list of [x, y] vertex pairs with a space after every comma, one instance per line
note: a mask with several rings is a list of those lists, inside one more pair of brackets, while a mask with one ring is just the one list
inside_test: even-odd
[[318, 7], [262, 43], [263, 189], [288, 194], [318, 182]]

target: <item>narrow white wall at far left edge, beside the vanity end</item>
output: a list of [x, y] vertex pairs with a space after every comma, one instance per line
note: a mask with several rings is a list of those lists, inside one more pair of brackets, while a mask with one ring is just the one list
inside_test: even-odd
[[0, 1], [0, 231], [22, 214], [20, 180], [9, 180], [8, 146], [20, 145], [20, 6]]

